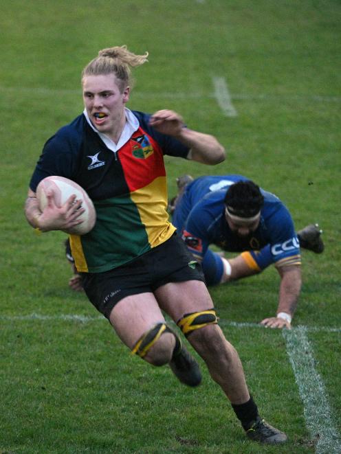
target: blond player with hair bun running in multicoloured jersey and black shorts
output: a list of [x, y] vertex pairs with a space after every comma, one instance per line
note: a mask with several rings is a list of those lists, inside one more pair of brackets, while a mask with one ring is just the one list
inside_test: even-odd
[[41, 231], [77, 225], [81, 201], [71, 196], [58, 207], [49, 194], [41, 212], [35, 191], [49, 175], [80, 184], [94, 201], [97, 220], [88, 234], [70, 236], [70, 245], [90, 302], [133, 354], [169, 365], [179, 381], [197, 386], [199, 365], [177, 328], [166, 324], [168, 314], [205, 361], [248, 438], [285, 442], [285, 433], [259, 416], [239, 355], [218, 325], [201, 266], [168, 220], [164, 155], [217, 164], [225, 150], [212, 135], [185, 127], [174, 111], [147, 115], [126, 109], [131, 67], [145, 63], [147, 55], [111, 47], [85, 67], [85, 110], [45, 144], [30, 181], [26, 217]]

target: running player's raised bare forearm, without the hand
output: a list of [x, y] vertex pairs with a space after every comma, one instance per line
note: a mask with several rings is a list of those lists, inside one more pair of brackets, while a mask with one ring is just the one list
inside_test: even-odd
[[188, 158], [204, 164], [218, 164], [225, 160], [225, 148], [208, 134], [182, 128], [177, 139], [190, 148]]

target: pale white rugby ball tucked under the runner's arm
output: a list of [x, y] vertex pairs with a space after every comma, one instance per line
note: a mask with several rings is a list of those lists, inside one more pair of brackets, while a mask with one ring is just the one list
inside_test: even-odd
[[41, 211], [43, 211], [47, 205], [47, 190], [52, 190], [54, 202], [58, 207], [61, 207], [72, 194], [76, 195], [76, 200], [83, 201], [82, 208], [85, 209], [85, 212], [78, 218], [83, 222], [75, 225], [72, 229], [63, 230], [65, 233], [71, 235], [85, 235], [94, 228], [96, 223], [96, 209], [91, 198], [89, 198], [87, 192], [80, 185], [67, 178], [58, 177], [57, 175], [44, 178], [36, 188], [36, 198]]

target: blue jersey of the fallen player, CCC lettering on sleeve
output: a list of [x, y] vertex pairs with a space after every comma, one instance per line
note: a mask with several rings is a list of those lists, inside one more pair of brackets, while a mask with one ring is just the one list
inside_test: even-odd
[[264, 205], [259, 226], [248, 237], [237, 236], [225, 220], [226, 190], [243, 175], [200, 177], [190, 183], [179, 198], [172, 222], [181, 232], [193, 256], [202, 262], [208, 285], [218, 284], [223, 262], [208, 249], [217, 245], [224, 251], [242, 252], [245, 262], [255, 271], [274, 263], [277, 267], [300, 264], [300, 245], [292, 216], [281, 200], [261, 189]]

